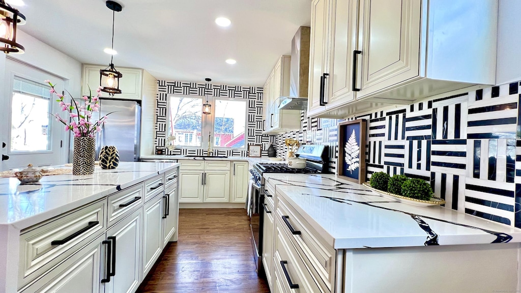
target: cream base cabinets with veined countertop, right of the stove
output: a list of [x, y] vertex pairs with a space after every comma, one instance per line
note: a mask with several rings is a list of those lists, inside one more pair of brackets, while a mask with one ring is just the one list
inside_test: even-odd
[[271, 234], [265, 227], [271, 288], [291, 280], [321, 292], [519, 290], [521, 229], [400, 203], [334, 175], [264, 177], [275, 211]]

